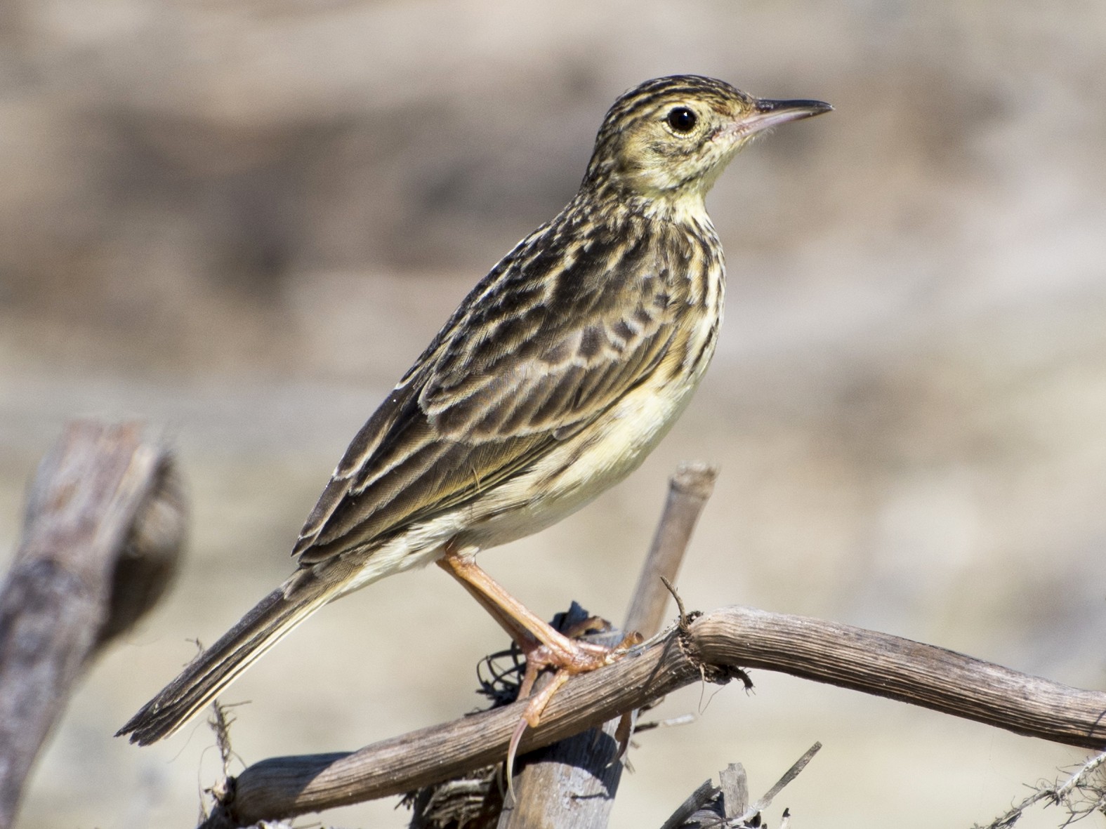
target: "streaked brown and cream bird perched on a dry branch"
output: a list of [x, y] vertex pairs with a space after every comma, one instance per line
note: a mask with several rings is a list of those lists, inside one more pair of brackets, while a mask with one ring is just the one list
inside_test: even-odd
[[668, 432], [722, 322], [707, 192], [754, 137], [832, 108], [701, 75], [619, 96], [576, 195], [476, 285], [356, 433], [303, 525], [294, 573], [116, 736], [169, 736], [327, 602], [430, 563], [518, 642], [520, 696], [556, 669], [520, 728], [568, 676], [619, 658], [628, 646], [568, 639], [474, 556], [584, 506]]

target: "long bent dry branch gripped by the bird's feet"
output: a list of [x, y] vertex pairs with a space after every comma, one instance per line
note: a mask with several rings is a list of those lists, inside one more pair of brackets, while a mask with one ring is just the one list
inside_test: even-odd
[[[700, 676], [763, 668], [887, 696], [1026, 736], [1106, 747], [1106, 692], [1083, 691], [887, 633], [743, 607], [709, 612], [615, 664], [568, 682], [522, 749], [550, 745], [641, 707]], [[232, 781], [220, 820], [248, 826], [403, 794], [503, 757], [514, 703], [354, 753], [274, 757]]]

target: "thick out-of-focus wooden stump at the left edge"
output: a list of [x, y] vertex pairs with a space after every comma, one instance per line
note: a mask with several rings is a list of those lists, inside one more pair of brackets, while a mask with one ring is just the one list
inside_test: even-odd
[[182, 534], [176, 473], [139, 424], [69, 424], [0, 594], [0, 828], [88, 658], [161, 595]]

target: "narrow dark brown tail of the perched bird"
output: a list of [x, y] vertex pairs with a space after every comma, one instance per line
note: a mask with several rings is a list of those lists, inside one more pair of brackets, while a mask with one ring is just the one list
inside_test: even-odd
[[215, 644], [188, 663], [180, 675], [146, 703], [116, 733], [149, 745], [173, 734], [211, 702], [249, 668], [313, 612], [342, 591], [342, 581], [300, 570], [258, 602]]

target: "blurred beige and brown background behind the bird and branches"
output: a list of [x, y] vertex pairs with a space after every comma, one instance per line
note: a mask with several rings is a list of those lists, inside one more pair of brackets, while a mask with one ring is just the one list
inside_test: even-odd
[[[675, 72], [836, 112], [709, 203], [719, 354], [629, 481], [482, 564], [620, 619], [681, 459], [722, 472], [680, 578], [745, 604], [1106, 684], [1106, 4], [1027, 0], [11, 0], [0, 7], [0, 550], [74, 414], [138, 416], [194, 504], [176, 589], [86, 678], [22, 826], [190, 826], [202, 724], [114, 731], [292, 568], [365, 417], [551, 218], [607, 106]], [[477, 705], [503, 644], [437, 570], [338, 602], [225, 696], [246, 763]], [[753, 672], [644, 734], [614, 826], [742, 762], [793, 826], [987, 822], [1084, 753]], [[401, 827], [395, 800], [327, 823]], [[1020, 826], [1056, 826], [1058, 812]], [[1103, 826], [1099, 819], [1098, 826]]]

